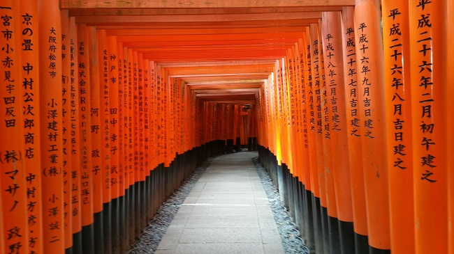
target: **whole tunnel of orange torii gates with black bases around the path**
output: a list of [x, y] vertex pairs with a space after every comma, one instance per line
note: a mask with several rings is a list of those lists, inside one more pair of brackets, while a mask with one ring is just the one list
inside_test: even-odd
[[241, 148], [312, 253], [454, 253], [452, 13], [1, 0], [0, 253], [125, 253], [200, 161]]

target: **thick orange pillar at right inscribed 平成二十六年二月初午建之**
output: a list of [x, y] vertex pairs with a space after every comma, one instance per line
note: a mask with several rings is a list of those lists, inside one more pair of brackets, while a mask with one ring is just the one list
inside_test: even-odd
[[446, 3], [409, 1], [415, 253], [448, 253]]

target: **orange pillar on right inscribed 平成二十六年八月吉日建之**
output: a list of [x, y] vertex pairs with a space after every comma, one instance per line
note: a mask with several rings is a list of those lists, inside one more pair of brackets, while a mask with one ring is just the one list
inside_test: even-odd
[[414, 253], [409, 5], [382, 4], [391, 250]]

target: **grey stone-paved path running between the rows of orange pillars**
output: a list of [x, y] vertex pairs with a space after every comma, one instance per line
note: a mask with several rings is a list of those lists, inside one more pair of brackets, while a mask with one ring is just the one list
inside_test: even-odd
[[283, 254], [268, 199], [251, 158], [215, 158], [175, 215], [156, 254]]

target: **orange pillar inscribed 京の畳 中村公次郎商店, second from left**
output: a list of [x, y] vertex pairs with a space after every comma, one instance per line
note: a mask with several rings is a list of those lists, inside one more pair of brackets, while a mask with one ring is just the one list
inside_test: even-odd
[[[41, 208], [41, 173], [39, 165], [41, 164], [41, 136], [39, 130], [39, 87], [36, 81], [39, 79], [39, 54], [38, 54], [38, 3], [21, 2], [21, 30], [22, 30], [22, 109], [24, 122], [33, 122], [33, 125], [24, 125], [24, 149], [34, 156], [27, 158], [25, 161], [27, 177], [27, 202], [35, 203], [35, 208], [28, 211], [28, 229], [29, 229], [29, 251], [42, 253], [43, 239], [41, 237], [42, 229], [42, 208]], [[25, 84], [30, 84], [26, 86]], [[32, 152], [33, 151], [33, 152]], [[28, 181], [29, 180], [29, 181]]]

